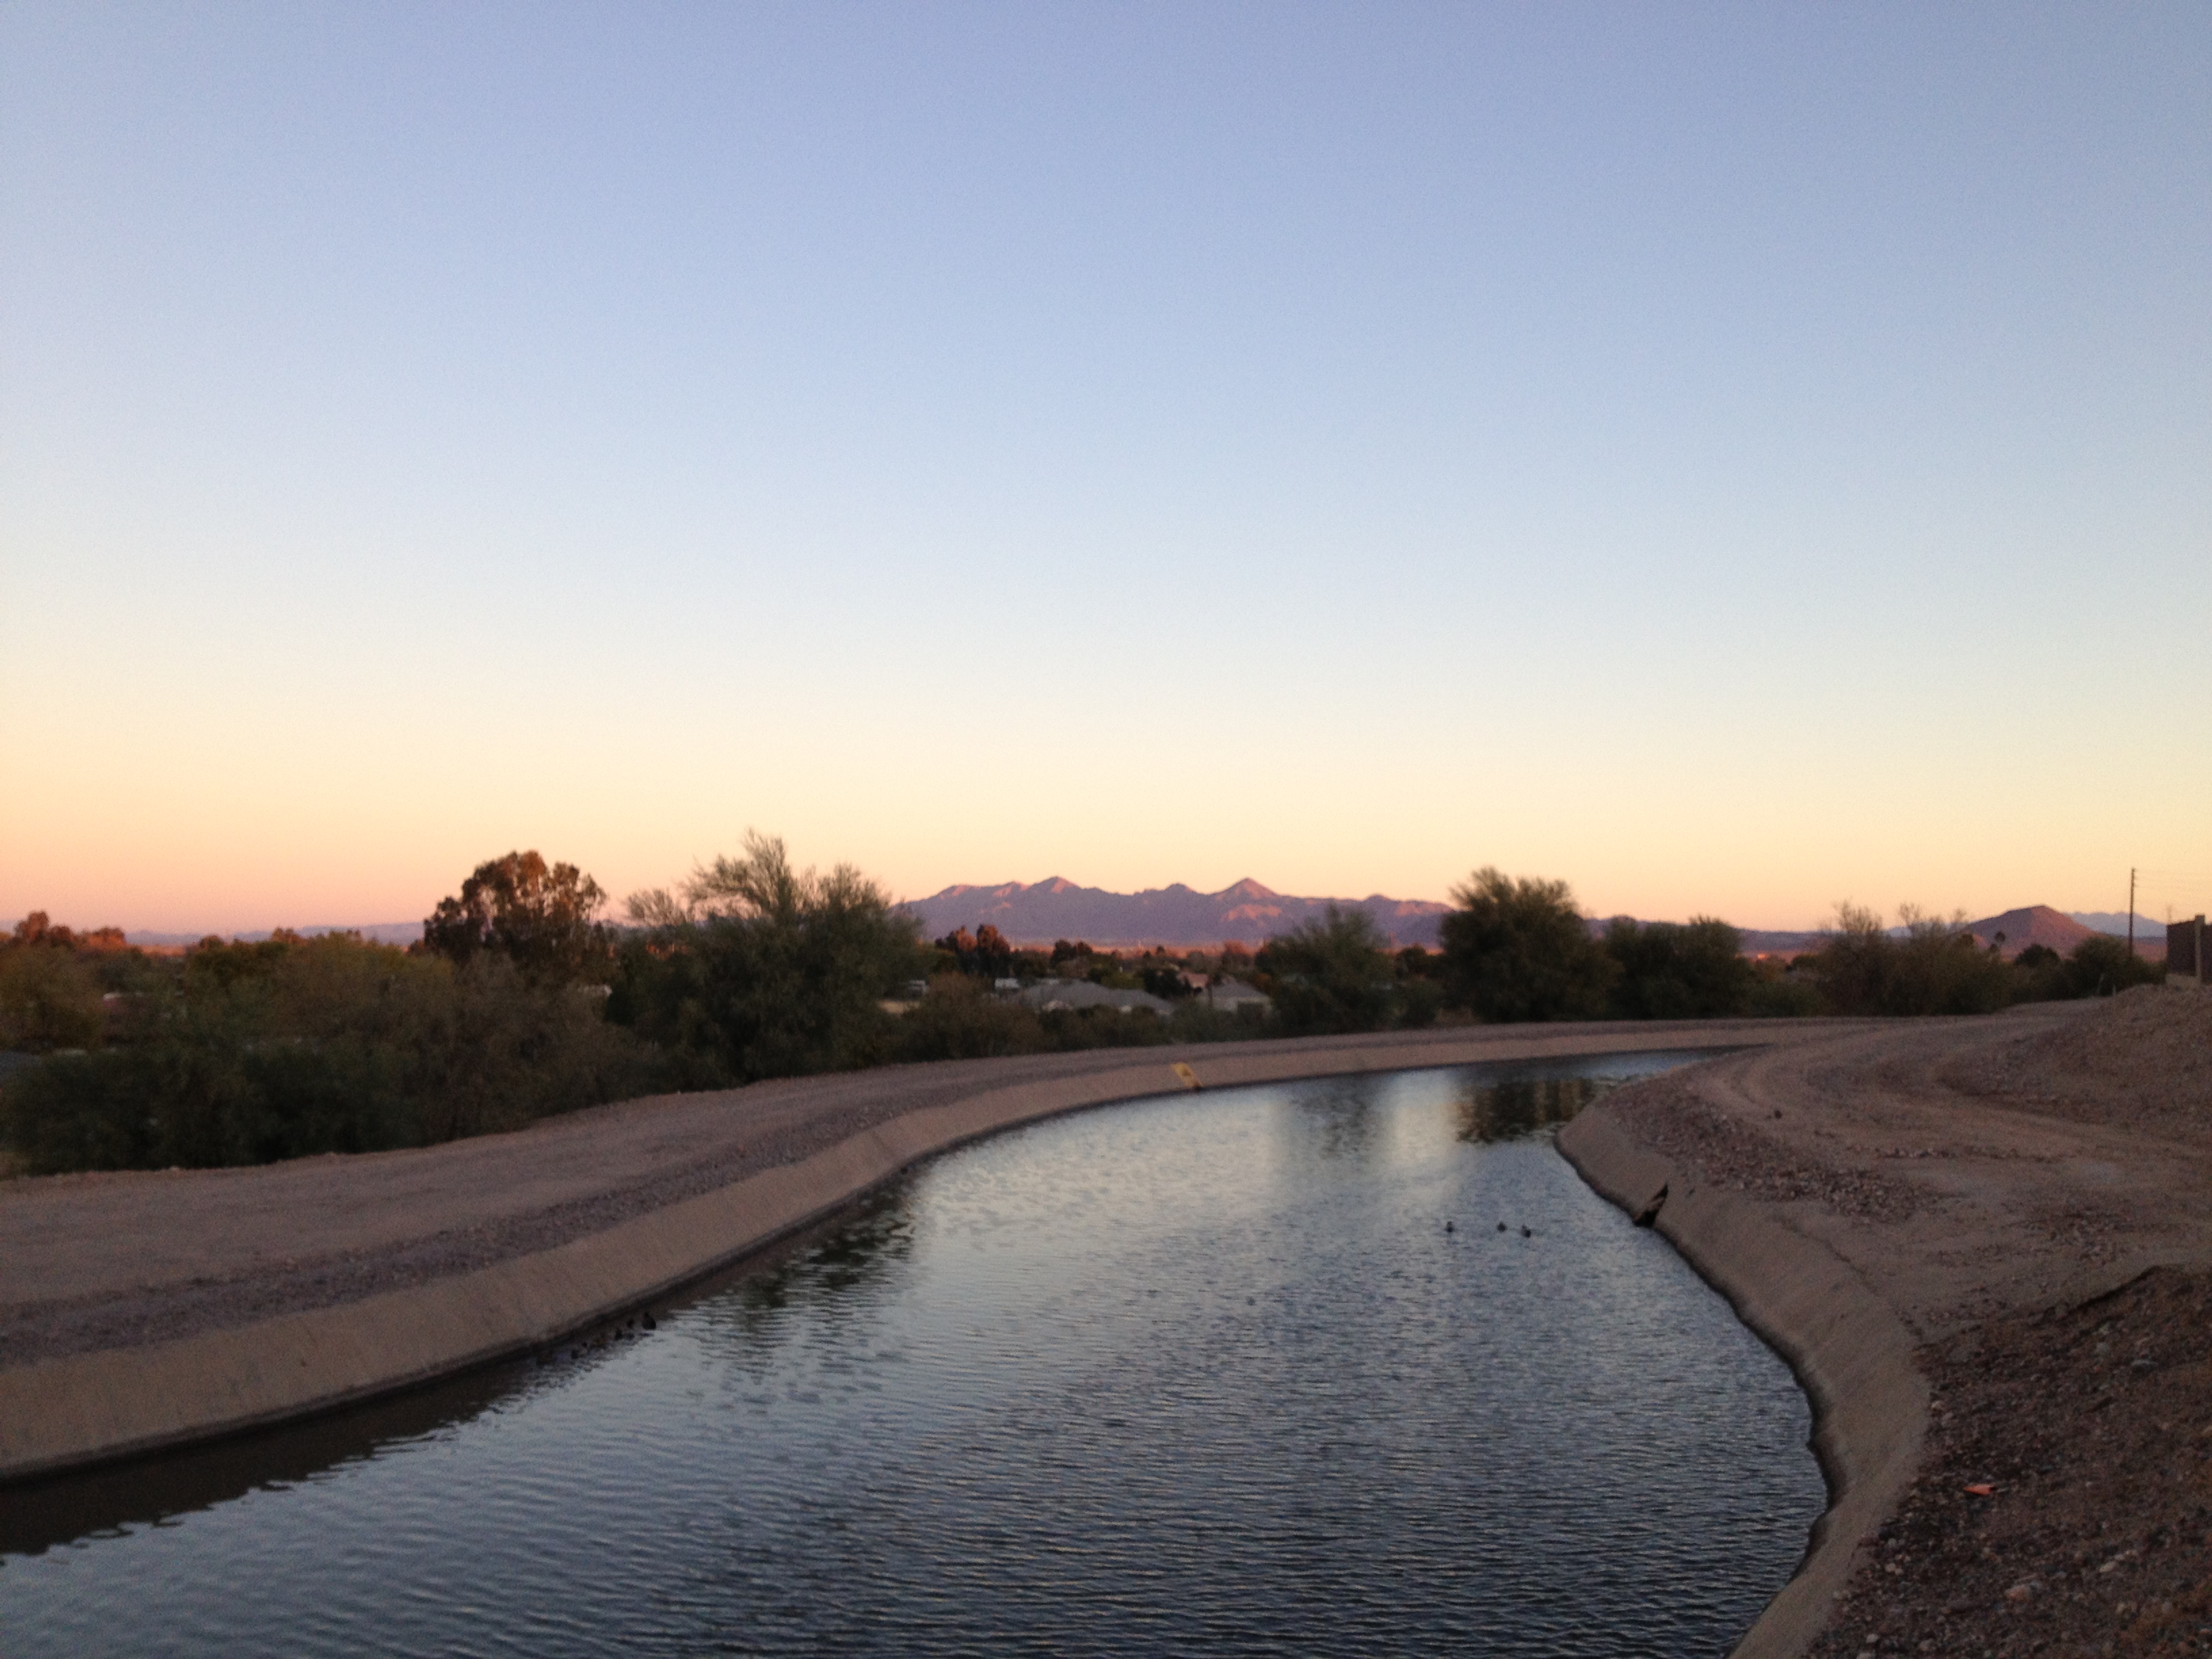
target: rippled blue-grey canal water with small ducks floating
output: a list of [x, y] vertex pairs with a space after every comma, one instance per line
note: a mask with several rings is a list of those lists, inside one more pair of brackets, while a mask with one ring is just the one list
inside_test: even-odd
[[1683, 1057], [964, 1148], [653, 1332], [0, 1493], [0, 1652], [1721, 1655], [1805, 1398], [1551, 1146]]

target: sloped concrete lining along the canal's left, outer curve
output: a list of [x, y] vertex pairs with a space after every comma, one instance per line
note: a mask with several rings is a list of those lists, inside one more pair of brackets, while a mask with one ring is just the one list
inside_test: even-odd
[[[560, 1340], [836, 1212], [907, 1166], [1040, 1117], [1206, 1086], [1498, 1060], [1803, 1037], [1785, 1026], [1409, 1033], [1402, 1042], [1141, 1051], [1130, 1064], [987, 1088], [571, 1243], [427, 1285], [144, 1347], [0, 1369], [0, 1480], [208, 1440], [352, 1405]], [[1161, 1057], [1161, 1055], [1168, 1057]]]

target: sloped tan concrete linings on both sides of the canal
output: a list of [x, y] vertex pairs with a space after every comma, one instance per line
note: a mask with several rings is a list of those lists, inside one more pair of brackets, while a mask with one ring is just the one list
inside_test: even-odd
[[[659, 1301], [827, 1219], [914, 1164], [1018, 1124], [1186, 1088], [1511, 1060], [1759, 1046], [1825, 1035], [1776, 1022], [1628, 1031], [1471, 1029], [1405, 1042], [1241, 1053], [1150, 1051], [1124, 1068], [989, 1088], [914, 1110], [801, 1164], [763, 1170], [571, 1243], [336, 1307], [170, 1343], [0, 1369], [0, 1480], [53, 1473], [330, 1411], [557, 1343]], [[1630, 1214], [1668, 1188], [1659, 1232], [1736, 1307], [1812, 1396], [1832, 1506], [1798, 1575], [1736, 1648], [1798, 1655], [1827, 1619], [1856, 1542], [1911, 1478], [1927, 1427], [1913, 1343], [1825, 1245], [1730, 1192], [1688, 1188], [1593, 1106], [1559, 1135], [1584, 1179]]]

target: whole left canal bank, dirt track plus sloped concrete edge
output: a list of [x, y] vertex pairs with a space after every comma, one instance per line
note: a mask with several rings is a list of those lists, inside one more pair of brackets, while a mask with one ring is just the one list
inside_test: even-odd
[[555, 1343], [995, 1130], [1334, 1073], [1807, 1042], [1823, 1022], [1093, 1051], [626, 1102], [248, 1170], [0, 1183], [0, 1480], [325, 1411]]

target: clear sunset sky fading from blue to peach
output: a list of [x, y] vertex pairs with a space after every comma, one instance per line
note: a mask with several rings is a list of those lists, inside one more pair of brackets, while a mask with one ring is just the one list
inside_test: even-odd
[[2208, 111], [2194, 0], [4, 0], [0, 916], [2203, 909]]

